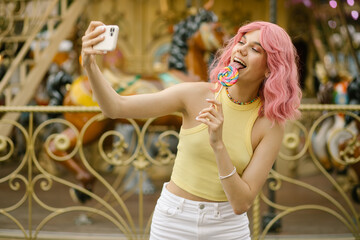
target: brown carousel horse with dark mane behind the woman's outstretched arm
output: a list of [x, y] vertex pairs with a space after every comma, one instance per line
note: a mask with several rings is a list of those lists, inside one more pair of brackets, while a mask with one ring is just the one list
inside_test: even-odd
[[[181, 82], [208, 81], [207, 54], [214, 53], [225, 41], [225, 34], [220, 24], [215, 20], [217, 20], [216, 16], [212, 12], [202, 10], [198, 16], [191, 16], [175, 26], [175, 33], [170, 48], [168, 71], [151, 79], [145, 79], [140, 76], [121, 74], [119, 70], [115, 74], [110, 69], [104, 69], [105, 79], [122, 95], [157, 92]], [[191, 26], [191, 28], [186, 29], [186, 26]], [[192, 34], [189, 35], [189, 33]], [[182, 46], [185, 46], [185, 53], [184, 49], [181, 48]], [[180, 49], [184, 54], [181, 55], [174, 49]], [[174, 62], [176, 64], [173, 64]], [[80, 76], [71, 84], [69, 91], [65, 95], [63, 105], [97, 106], [96, 101], [92, 98], [91, 87], [86, 76]], [[96, 113], [64, 113], [64, 118], [80, 131], [84, 124], [95, 115]], [[139, 124], [143, 123], [141, 120], [137, 121]], [[98, 139], [107, 127], [111, 126], [112, 122], [114, 120], [110, 119], [95, 121], [84, 133], [82, 144], [85, 145]], [[163, 116], [156, 119], [152, 124], [173, 126], [178, 129], [181, 119], [173, 115]], [[71, 128], [65, 129], [61, 134], [64, 134], [69, 139], [67, 150], [59, 149], [54, 140], [51, 140], [49, 145], [45, 146], [48, 148], [48, 151], [58, 157], [66, 156], [75, 147], [77, 142], [77, 136]], [[76, 180], [81, 187], [92, 191], [95, 179], [86, 168], [72, 158], [62, 161], [62, 164], [75, 174]], [[77, 200], [84, 203], [89, 199], [88, 195], [74, 189], [72, 190]]]

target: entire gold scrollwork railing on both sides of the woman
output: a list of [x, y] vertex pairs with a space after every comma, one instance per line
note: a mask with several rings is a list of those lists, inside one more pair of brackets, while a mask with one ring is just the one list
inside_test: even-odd
[[[277, 193], [282, 190], [284, 183], [291, 184], [310, 191], [314, 196], [324, 199], [327, 204], [321, 205], [308, 199], [306, 202], [290, 206], [283, 204], [281, 199], [275, 201], [263, 191], [259, 194], [252, 209], [254, 213], [251, 218], [253, 239], [264, 239], [272, 234], [271, 228], [277, 221], [299, 211], [308, 210], [328, 214], [338, 220], [346, 229], [345, 233], [355, 239], [360, 239], [359, 206], [349, 195], [349, 187], [345, 187], [343, 182], [338, 181], [336, 174], [325, 167], [313, 140], [314, 135], [319, 134], [319, 128], [328, 119], [341, 115], [360, 122], [360, 118], [353, 113], [360, 110], [360, 106], [302, 105], [301, 109], [303, 118], [289, 122], [286, 127], [283, 147], [276, 166], [283, 162], [291, 162], [296, 163], [295, 168], [301, 168], [302, 159], [307, 159], [317, 169], [317, 174], [325, 178], [328, 185], [333, 187], [336, 196], [333, 192], [327, 191], [328, 187], [322, 189], [316, 184], [303, 181], [300, 174], [294, 174], [291, 171], [290, 174], [283, 173], [275, 167], [270, 172], [269, 182], [264, 188]], [[149, 209], [153, 208], [154, 199], [156, 199], [153, 198], [149, 202], [148, 195], [153, 196], [157, 193], [152, 192], [153, 189], [150, 191], [146, 189], [146, 185], [149, 179], [153, 184], [160, 183], [161, 185], [161, 182], [170, 176], [176, 154], [172, 147], [176, 146], [178, 138], [175, 128], [155, 126], [155, 119], [148, 119], [142, 123], [133, 119], [126, 119], [121, 123], [111, 121], [112, 124], [119, 124], [120, 128], [111, 127], [101, 132], [96, 144], [85, 145], [83, 142], [91, 127], [99, 122], [107, 121], [97, 107], [2, 106], [0, 112], [29, 114], [28, 125], [24, 126], [13, 120], [0, 121], [0, 127], [11, 127], [13, 133], [16, 133], [11, 136], [0, 136], [0, 163], [3, 169], [8, 169], [8, 171], [0, 172], [0, 190], [5, 191], [6, 187], [6, 191], [19, 194], [15, 203], [10, 204], [9, 201], [6, 206], [0, 206], [0, 222], [12, 222], [19, 231], [19, 235], [25, 239], [42, 239], [41, 234], [44, 229], [51, 226], [53, 221], [69, 214], [86, 213], [90, 220], [98, 217], [110, 223], [117, 234], [117, 239], [147, 239], [152, 211]], [[63, 118], [36, 120], [37, 115], [55, 112], [93, 113], [94, 115], [81, 130]], [[110, 122], [106, 123], [112, 126]], [[77, 140], [73, 147], [70, 147], [71, 140], [63, 133], [64, 129], [72, 129], [76, 136]], [[336, 146], [334, 143], [337, 143], [335, 140], [341, 139], [339, 136], [351, 139], [349, 145], [343, 150], [334, 148]], [[173, 141], [175, 139], [175, 144], [169, 141], [169, 138]], [[333, 134], [329, 134], [324, 144], [326, 149], [330, 149], [328, 153], [330, 164], [335, 168], [345, 166], [347, 169], [359, 164], [359, 157], [351, 155], [356, 153], [358, 144], [356, 139], [353, 129], [349, 128], [337, 128]], [[50, 151], [48, 146], [51, 142], [55, 144], [56, 149], [66, 154], [59, 156]], [[24, 149], [20, 151], [22, 147]], [[96, 188], [89, 189], [79, 184], [77, 176], [72, 176], [63, 168], [54, 170], [58, 168], [58, 164], [75, 157], [95, 178]], [[152, 168], [155, 170], [151, 170]], [[341, 170], [343, 171], [344, 168]], [[159, 177], [160, 173], [164, 176]], [[347, 186], [354, 185], [351, 182], [347, 184]], [[68, 189], [69, 193], [57, 190], [64, 188]], [[67, 201], [60, 204], [56, 201], [49, 202], [46, 197], [44, 198], [54, 191], [61, 191], [66, 195], [61, 199], [67, 199]], [[79, 200], [79, 194], [87, 197], [88, 201], [73, 202], [72, 199]], [[133, 201], [137, 202], [135, 208]], [[35, 204], [43, 211], [40, 218], [33, 214]], [[261, 226], [260, 212], [262, 204], [276, 210], [274, 218], [263, 226]], [[26, 209], [28, 213], [26, 222], [17, 213], [24, 212], [22, 209]], [[61, 225], [58, 226], [61, 227]], [[94, 231], [94, 229], [87, 228], [86, 231]]]

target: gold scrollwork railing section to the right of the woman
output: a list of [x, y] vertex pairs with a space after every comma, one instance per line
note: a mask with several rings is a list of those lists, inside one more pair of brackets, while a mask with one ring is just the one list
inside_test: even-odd
[[[309, 190], [314, 196], [325, 199], [328, 204], [321, 205], [316, 203], [303, 203], [295, 206], [287, 206], [277, 203], [274, 199], [270, 199], [264, 192], [261, 192], [256, 200], [256, 206], [254, 207], [254, 219], [260, 221], [259, 217], [259, 205], [260, 199], [265, 205], [276, 210], [276, 214], [263, 226], [261, 232], [261, 226], [259, 223], [254, 225], [254, 238], [264, 239], [266, 235], [271, 232], [273, 226], [277, 224], [282, 218], [296, 213], [298, 211], [313, 210], [325, 212], [332, 217], [335, 217], [345, 228], [350, 235], [355, 239], [360, 239], [360, 214], [358, 203], [355, 203], [348, 192], [349, 187], [344, 187], [336, 179], [336, 170], [339, 172], [351, 168], [352, 165], [360, 164], [360, 157], [354, 157], [355, 148], [359, 146], [357, 135], [359, 134], [354, 129], [345, 127], [345, 118], [352, 119], [353, 122], [360, 123], [360, 118], [352, 111], [358, 111], [360, 106], [358, 105], [302, 105], [301, 110], [303, 115], [308, 115], [309, 118], [303, 117], [299, 121], [293, 121], [288, 123], [291, 131], [286, 131], [283, 139], [283, 149], [280, 151], [277, 164], [283, 161], [287, 162], [299, 162], [301, 159], [306, 158], [311, 161], [316, 167], [317, 171], [328, 180], [328, 184], [331, 185], [337, 193], [334, 197], [331, 193], [325, 189], [316, 187], [316, 184], [309, 184], [304, 181], [296, 179], [296, 177], [289, 177], [279, 173], [276, 169], [272, 169], [269, 174], [269, 181], [267, 188], [274, 193], [278, 192], [282, 188], [283, 183], [291, 184], [292, 186], [301, 187]], [[336, 119], [340, 123], [336, 126]], [[324, 121], [333, 121], [333, 125], [327, 129], [327, 134], [323, 135], [322, 146], [318, 145], [314, 140], [314, 136], [320, 134], [319, 128], [324, 124]], [[308, 130], [309, 129], [309, 130]], [[342, 138], [341, 138], [342, 137]], [[339, 145], [345, 140], [349, 141], [349, 144], [345, 150], [340, 151]], [[326, 158], [321, 158], [319, 155], [319, 147], [324, 147], [326, 150]], [[315, 151], [316, 150], [316, 151]], [[352, 157], [346, 158], [346, 153], [352, 155]], [[328, 161], [325, 163], [324, 161]], [[327, 164], [332, 165], [334, 169], [326, 169]], [[298, 166], [298, 165], [297, 165]], [[356, 170], [358, 171], [358, 170]], [[342, 173], [343, 174], [343, 173]], [[291, 174], [289, 174], [291, 175]], [[360, 172], [357, 172], [357, 185], [359, 186]], [[350, 184], [350, 183], [348, 183]], [[310, 220], [310, 218], [309, 218]], [[261, 232], [261, 233], [260, 233]]]

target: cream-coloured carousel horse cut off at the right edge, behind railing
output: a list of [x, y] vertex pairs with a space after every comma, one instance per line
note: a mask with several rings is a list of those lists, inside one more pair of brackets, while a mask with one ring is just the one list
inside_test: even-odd
[[[332, 102], [322, 103], [360, 104], [359, 88], [359, 79], [355, 78], [351, 81], [348, 76], [341, 76], [340, 81], [329, 82], [327, 86], [320, 88], [319, 99], [332, 99]], [[360, 123], [339, 113], [331, 118], [326, 118], [312, 138], [314, 154], [327, 171], [335, 170], [339, 176], [346, 176], [351, 168], [356, 174], [357, 184], [354, 186], [350, 186], [349, 180], [342, 182], [341, 177], [338, 178], [338, 181], [345, 190], [351, 190], [352, 198], [358, 203], [360, 203], [360, 161], [349, 161], [360, 157], [359, 133]]]

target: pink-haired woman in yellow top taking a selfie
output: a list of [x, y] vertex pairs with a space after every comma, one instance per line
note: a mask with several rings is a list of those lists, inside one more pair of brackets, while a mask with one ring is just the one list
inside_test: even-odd
[[[120, 96], [105, 81], [94, 50], [104, 29], [91, 22], [82, 59], [93, 93], [110, 118], [151, 118], [181, 112], [171, 180], [155, 207], [150, 239], [250, 239], [246, 215], [277, 157], [288, 119], [300, 116], [296, 51], [278, 25], [252, 22], [220, 49], [210, 82]], [[218, 75], [231, 66], [234, 83]], [[235, 83], [236, 82], [236, 83]], [[214, 90], [215, 89], [215, 90]]]

